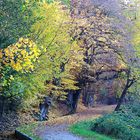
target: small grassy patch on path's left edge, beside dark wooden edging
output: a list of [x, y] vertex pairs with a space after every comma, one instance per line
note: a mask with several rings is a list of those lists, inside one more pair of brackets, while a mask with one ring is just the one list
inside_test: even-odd
[[39, 123], [31, 123], [28, 125], [23, 125], [17, 128], [17, 130], [26, 136], [32, 138], [33, 140], [41, 140], [39, 136], [35, 134], [35, 129], [38, 127]]

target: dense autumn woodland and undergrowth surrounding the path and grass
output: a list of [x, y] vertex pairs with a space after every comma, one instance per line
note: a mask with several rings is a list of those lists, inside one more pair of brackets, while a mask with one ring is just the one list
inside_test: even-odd
[[140, 139], [140, 1], [0, 0], [0, 133], [98, 105], [91, 131]]

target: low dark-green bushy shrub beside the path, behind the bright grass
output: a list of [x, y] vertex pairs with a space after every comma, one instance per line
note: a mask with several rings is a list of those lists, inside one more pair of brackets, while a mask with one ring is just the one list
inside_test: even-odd
[[119, 139], [137, 140], [140, 118], [129, 112], [114, 112], [97, 119], [92, 130]]

